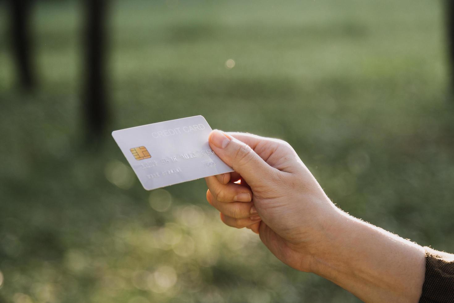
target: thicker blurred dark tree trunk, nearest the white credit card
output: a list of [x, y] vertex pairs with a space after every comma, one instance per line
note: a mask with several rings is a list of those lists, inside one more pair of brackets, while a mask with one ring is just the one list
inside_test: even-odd
[[107, 0], [84, 0], [86, 9], [84, 118], [87, 138], [99, 139], [108, 122], [106, 94]]

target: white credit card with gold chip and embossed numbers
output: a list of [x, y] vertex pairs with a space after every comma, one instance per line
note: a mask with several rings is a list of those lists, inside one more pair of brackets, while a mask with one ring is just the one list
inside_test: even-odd
[[208, 144], [211, 127], [194, 116], [112, 132], [147, 190], [232, 172]]

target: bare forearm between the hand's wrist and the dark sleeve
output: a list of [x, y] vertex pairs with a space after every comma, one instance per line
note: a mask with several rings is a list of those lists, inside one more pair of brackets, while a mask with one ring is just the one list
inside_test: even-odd
[[337, 210], [311, 271], [365, 302], [418, 302], [424, 248]]

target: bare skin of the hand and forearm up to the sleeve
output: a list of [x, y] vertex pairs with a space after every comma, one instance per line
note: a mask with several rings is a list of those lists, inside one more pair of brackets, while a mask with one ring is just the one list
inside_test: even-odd
[[419, 301], [424, 248], [338, 209], [288, 143], [219, 130], [209, 143], [235, 170], [206, 178], [222, 222], [252, 229], [283, 263], [365, 302]]

